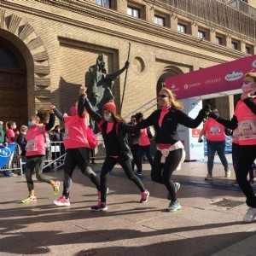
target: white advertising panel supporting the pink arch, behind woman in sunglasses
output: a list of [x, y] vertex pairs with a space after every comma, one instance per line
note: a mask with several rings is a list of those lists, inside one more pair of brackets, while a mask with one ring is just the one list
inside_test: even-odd
[[[183, 102], [183, 112], [188, 114], [190, 118], [195, 119], [202, 108], [202, 101], [195, 98], [181, 100]], [[186, 158], [185, 160], [203, 160], [204, 159], [204, 145], [198, 143], [198, 137], [203, 124], [195, 129], [190, 129], [183, 125], [178, 125], [177, 132], [184, 145]]]

